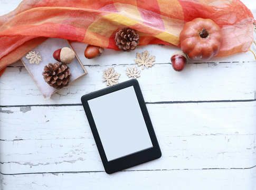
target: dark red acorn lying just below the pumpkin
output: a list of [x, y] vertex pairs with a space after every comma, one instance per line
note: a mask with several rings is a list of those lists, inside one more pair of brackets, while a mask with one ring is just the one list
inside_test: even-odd
[[188, 56], [183, 51], [175, 52], [170, 58], [173, 69], [175, 71], [182, 71], [187, 64], [187, 59], [188, 59]]

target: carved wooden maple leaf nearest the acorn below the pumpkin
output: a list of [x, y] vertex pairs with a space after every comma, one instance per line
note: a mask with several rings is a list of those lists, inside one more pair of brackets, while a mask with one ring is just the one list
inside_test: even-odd
[[143, 52], [142, 54], [137, 53], [136, 55], [136, 60], [135, 63], [138, 64], [138, 66], [143, 65], [142, 69], [144, 69], [144, 66], [146, 66], [146, 68], [152, 67], [155, 63], [153, 63], [155, 61], [156, 56], [151, 55], [149, 57], [149, 53], [146, 50], [145, 52]]

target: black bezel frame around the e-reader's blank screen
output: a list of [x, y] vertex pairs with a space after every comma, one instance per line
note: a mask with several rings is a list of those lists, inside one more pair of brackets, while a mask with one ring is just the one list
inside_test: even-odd
[[[103, 95], [111, 93], [111, 92], [115, 92], [117, 90], [131, 87], [131, 86], [134, 87], [134, 90], [135, 90], [135, 93], [136, 93], [136, 96], [137, 96], [137, 99], [139, 102], [139, 106], [140, 106], [141, 112], [143, 113], [143, 117], [144, 117], [147, 129], [148, 129], [148, 133], [149, 133], [153, 147], [138, 151], [131, 155], [127, 155], [124, 157], [120, 157], [120, 158], [108, 161], [105, 151], [103, 149], [101, 140], [100, 140], [100, 136], [98, 134], [97, 127], [96, 127], [95, 122], [92, 117], [92, 113], [91, 113], [91, 110], [90, 110], [90, 107], [88, 104], [88, 100], [103, 96]], [[127, 169], [129, 167], [136, 166], [138, 164], [142, 164], [142, 163], [148, 162], [150, 160], [154, 160], [154, 159], [161, 157], [162, 153], [161, 153], [159, 145], [158, 145], [155, 131], [153, 129], [151, 120], [149, 118], [148, 110], [145, 105], [145, 101], [143, 98], [143, 94], [141, 93], [139, 83], [136, 79], [132, 79], [132, 80], [129, 80], [126, 82], [116, 84], [115, 86], [112, 86], [112, 87], [108, 87], [108, 88], [105, 88], [102, 90], [98, 90], [96, 92], [86, 94], [86, 95], [82, 96], [81, 101], [83, 104], [84, 111], [86, 112], [87, 119], [88, 119], [90, 127], [91, 127], [92, 135], [94, 137], [94, 140], [96, 141], [96, 145], [99, 150], [99, 154], [100, 154], [103, 166], [106, 170], [106, 173], [112, 174], [112, 173], [118, 172], [122, 169]]]

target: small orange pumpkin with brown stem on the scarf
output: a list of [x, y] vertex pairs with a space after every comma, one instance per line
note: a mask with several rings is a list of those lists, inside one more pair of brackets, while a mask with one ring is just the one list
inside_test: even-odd
[[179, 40], [190, 59], [206, 61], [219, 53], [222, 33], [211, 19], [195, 18], [184, 25]]

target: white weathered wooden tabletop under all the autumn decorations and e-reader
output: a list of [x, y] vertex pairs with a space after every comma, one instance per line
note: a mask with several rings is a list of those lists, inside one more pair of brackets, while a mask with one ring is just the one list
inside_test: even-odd
[[[243, 1], [256, 15], [256, 4]], [[0, 0], [0, 15], [20, 0]], [[83, 58], [85, 44], [75, 51]], [[251, 49], [256, 52], [252, 45]], [[156, 64], [138, 78], [162, 157], [105, 173], [80, 97], [105, 88], [103, 71], [119, 82], [136, 53]], [[20, 61], [0, 77], [0, 189], [256, 189], [256, 61], [251, 52], [175, 72], [178, 48], [140, 46], [82, 59], [88, 74], [44, 99]]]

